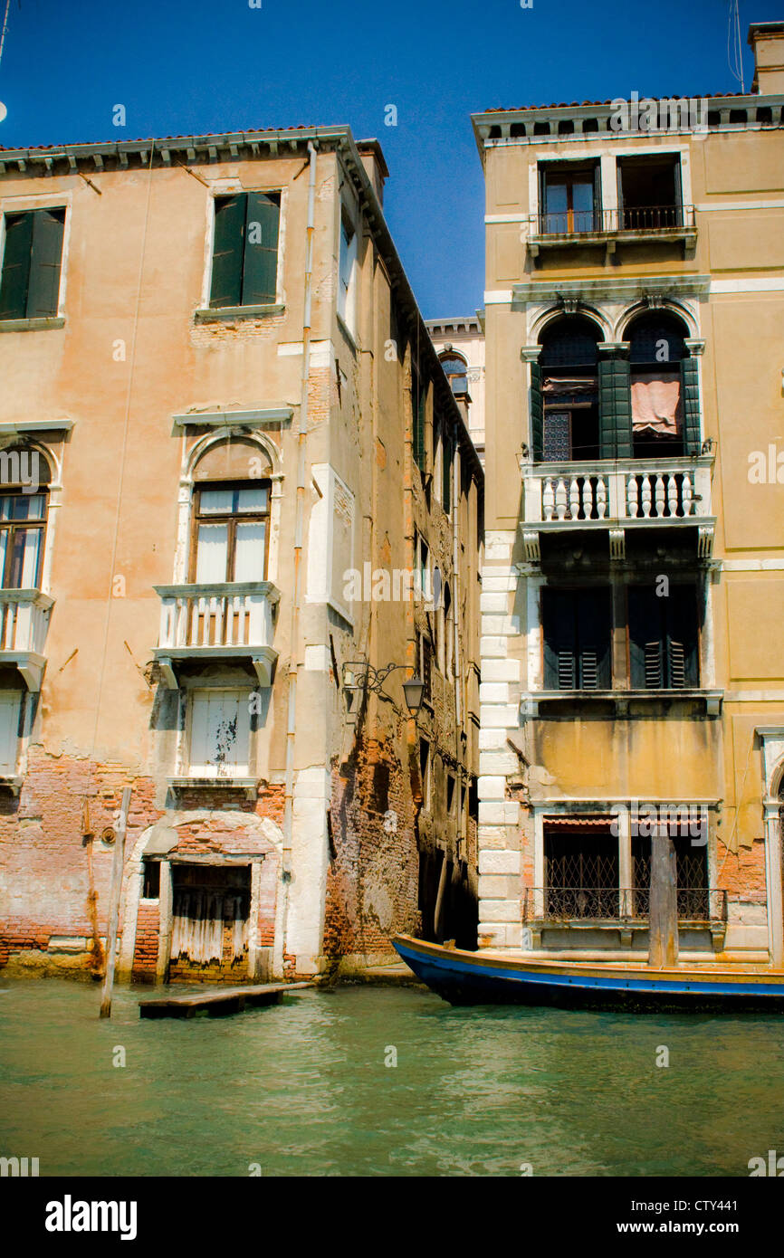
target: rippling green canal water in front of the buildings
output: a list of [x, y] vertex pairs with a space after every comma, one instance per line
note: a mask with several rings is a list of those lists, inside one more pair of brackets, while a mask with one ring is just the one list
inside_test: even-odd
[[748, 1176], [784, 1154], [784, 1018], [341, 986], [188, 1021], [121, 988], [99, 1021], [96, 988], [0, 988], [0, 1155], [40, 1175]]

